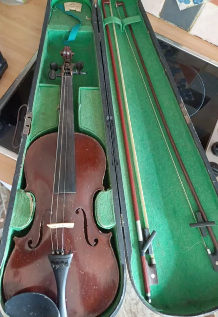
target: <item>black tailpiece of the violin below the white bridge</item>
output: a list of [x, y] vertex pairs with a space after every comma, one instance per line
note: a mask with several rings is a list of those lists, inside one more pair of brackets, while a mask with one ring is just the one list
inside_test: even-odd
[[57, 286], [57, 307], [60, 312], [60, 317], [67, 317], [66, 310], [66, 279], [71, 260], [73, 258], [72, 253], [62, 255], [61, 253], [49, 255], [49, 261], [54, 271], [54, 277]]

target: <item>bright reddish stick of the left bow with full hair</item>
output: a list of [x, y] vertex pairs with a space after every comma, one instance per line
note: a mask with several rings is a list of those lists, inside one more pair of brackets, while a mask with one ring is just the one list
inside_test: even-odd
[[[109, 5], [110, 13], [112, 13], [110, 1], [103, 0], [102, 6], [103, 6], [103, 13], [104, 13], [105, 18], [107, 18], [107, 12], [106, 12], [106, 8], [105, 8], [106, 4]], [[113, 23], [113, 27], [114, 27], [114, 23]], [[127, 160], [127, 168], [128, 168], [129, 182], [130, 182], [130, 188], [131, 188], [131, 196], [132, 196], [132, 202], [133, 202], [133, 210], [134, 210], [134, 216], [135, 216], [135, 222], [136, 222], [136, 228], [137, 228], [137, 234], [138, 234], [138, 241], [139, 241], [139, 249], [140, 249], [140, 255], [141, 255], [141, 264], [142, 264], [146, 299], [149, 303], [151, 303], [151, 292], [150, 292], [150, 284], [149, 284], [149, 277], [148, 277], [148, 270], [147, 270], [147, 262], [146, 262], [145, 253], [142, 251], [142, 247], [143, 247], [142, 227], [141, 227], [138, 202], [137, 202], [137, 196], [136, 196], [136, 190], [135, 190], [135, 184], [134, 184], [133, 169], [132, 169], [132, 164], [131, 164], [131, 156], [130, 156], [130, 150], [129, 150], [129, 145], [128, 145], [128, 137], [127, 137], [127, 131], [126, 131], [126, 126], [125, 126], [125, 118], [124, 118], [123, 105], [122, 105], [121, 93], [120, 93], [119, 82], [118, 82], [118, 75], [117, 75], [116, 64], [115, 64], [115, 57], [114, 57], [114, 53], [113, 53], [113, 47], [112, 47], [110, 31], [109, 31], [108, 25], [106, 25], [106, 30], [107, 30], [107, 36], [108, 36], [108, 42], [109, 42], [109, 51], [110, 51], [112, 69], [113, 69], [113, 77], [114, 77], [114, 82], [115, 82], [117, 102], [118, 102], [118, 107], [119, 107], [119, 114], [120, 114], [120, 121], [121, 121], [121, 127], [122, 127], [125, 155], [126, 155], [126, 160]], [[114, 27], [113, 31], [115, 31], [115, 27]], [[114, 32], [114, 37], [115, 37], [115, 41], [116, 41], [116, 45], [117, 45], [117, 39], [116, 39], [115, 32]], [[117, 48], [117, 46], [116, 46], [116, 48]], [[118, 59], [119, 59], [119, 66], [121, 66], [118, 50], [117, 50], [117, 54], [118, 54]], [[124, 93], [124, 98], [125, 98], [125, 93]], [[131, 130], [131, 126], [129, 128]]]

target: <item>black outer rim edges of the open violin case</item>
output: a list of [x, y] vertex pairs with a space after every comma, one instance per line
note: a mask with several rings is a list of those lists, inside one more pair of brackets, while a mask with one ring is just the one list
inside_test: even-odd
[[[150, 33], [151, 39], [153, 41], [154, 47], [155, 47], [155, 49], [160, 57], [161, 63], [163, 64], [163, 68], [166, 72], [166, 75], [168, 77], [168, 80], [170, 82], [172, 90], [176, 96], [178, 104], [183, 104], [181, 96], [180, 96], [180, 94], [177, 90], [177, 87], [173, 81], [169, 67], [165, 61], [165, 58], [163, 56], [163, 53], [162, 53], [161, 48], [159, 46], [159, 43], [156, 39], [155, 33], [154, 33], [154, 31], [151, 27], [151, 24], [149, 22], [148, 16], [144, 10], [143, 4], [142, 4], [141, 0], [138, 0], [138, 1], [139, 1], [140, 12], [141, 12], [142, 17], [147, 25], [147, 28], [148, 28], [148, 31]], [[41, 40], [40, 40], [40, 45], [39, 45], [39, 51], [38, 51], [38, 56], [37, 56], [36, 68], [35, 68], [35, 72], [34, 72], [33, 83], [32, 83], [32, 88], [31, 88], [31, 92], [30, 92], [29, 103], [28, 103], [28, 112], [31, 112], [32, 107], [33, 107], [33, 101], [34, 101], [34, 96], [35, 96], [35, 91], [36, 91], [37, 78], [38, 78], [38, 74], [39, 74], [43, 46], [44, 46], [44, 41], [45, 41], [45, 36], [46, 36], [46, 30], [47, 30], [48, 22], [50, 19], [50, 10], [51, 10], [50, 0], [48, 0], [46, 12], [45, 12], [44, 23], [43, 23], [43, 28], [42, 28], [42, 35], [41, 35]], [[132, 278], [131, 266], [130, 266], [132, 246], [131, 246], [131, 242], [130, 242], [130, 233], [129, 233], [129, 228], [128, 228], [128, 219], [127, 219], [127, 213], [126, 213], [126, 207], [125, 207], [125, 198], [124, 198], [123, 184], [122, 184], [122, 175], [121, 175], [121, 168], [120, 168], [120, 163], [119, 163], [119, 152], [118, 152], [118, 144], [117, 144], [117, 138], [116, 138], [116, 129], [115, 129], [115, 122], [114, 122], [110, 82], [109, 82], [109, 70], [108, 70], [108, 60], [107, 60], [107, 54], [106, 54], [106, 43], [105, 43], [103, 17], [102, 17], [102, 11], [101, 11], [100, 7], [98, 5], [96, 7], [94, 2], [92, 2], [92, 22], [93, 22], [97, 61], [98, 61], [98, 68], [99, 68], [100, 90], [101, 90], [103, 113], [104, 113], [104, 119], [105, 119], [109, 170], [110, 170], [112, 190], [113, 190], [113, 203], [114, 203], [115, 220], [116, 220], [116, 228], [117, 228], [117, 242], [118, 242], [119, 254], [116, 254], [116, 256], [119, 256], [119, 258], [120, 258], [121, 271], [122, 271], [121, 273], [123, 275], [123, 284], [120, 285], [122, 294], [120, 296], [120, 300], [119, 300], [118, 305], [116, 306], [116, 308], [114, 309], [114, 311], [110, 315], [112, 317], [112, 316], [115, 316], [117, 314], [117, 312], [122, 304], [124, 295], [125, 295], [125, 289], [126, 289], [126, 265], [125, 265], [125, 263], [126, 262], [127, 262], [129, 276], [130, 276], [130, 279], [131, 279], [131, 282], [132, 282], [132, 285], [134, 288], [135, 288], [135, 284], [134, 284], [134, 281]], [[194, 126], [193, 126], [191, 120], [189, 120], [188, 127], [189, 127], [190, 132], [192, 134], [192, 137], [196, 143], [196, 146], [201, 154], [201, 157], [205, 163], [205, 166], [208, 169], [210, 177], [211, 177], [213, 184], [215, 186], [216, 192], [218, 193], [217, 179], [212, 171], [211, 165], [206, 157], [204, 149], [200, 143], [200, 140], [196, 134], [196, 131], [194, 129]], [[22, 161], [23, 161], [23, 154], [24, 154], [26, 140], [27, 140], [27, 135], [23, 135], [22, 140], [21, 140], [19, 154], [18, 154], [18, 159], [17, 159], [17, 163], [16, 163], [16, 169], [15, 169], [14, 179], [13, 179], [13, 183], [12, 183], [12, 190], [11, 190], [10, 200], [9, 200], [9, 204], [8, 204], [7, 214], [6, 214], [6, 218], [5, 218], [2, 240], [1, 240], [1, 244], [0, 244], [0, 264], [2, 263], [2, 260], [4, 257], [7, 235], [8, 235], [9, 225], [10, 225], [10, 221], [11, 221], [14, 200], [15, 200], [15, 196], [16, 196], [16, 188], [17, 188], [18, 179], [19, 179], [19, 175], [20, 175], [20, 166], [22, 165]], [[142, 302], [146, 306], [148, 306], [147, 302], [145, 301], [144, 298], [142, 298], [139, 295], [136, 288], [135, 288], [135, 291], [138, 294], [138, 296], [140, 297], [140, 299], [142, 300]], [[152, 310], [153, 312], [157, 313], [150, 306], [149, 306], [149, 309]], [[214, 313], [216, 310], [214, 310], [211, 313]], [[207, 314], [208, 313], [210, 313], [210, 312], [207, 312]], [[0, 314], [0, 316], [2, 317], [1, 314]], [[166, 316], [166, 315], [163, 315], [163, 316]], [[190, 316], [193, 316], [193, 315], [190, 315]], [[202, 314], [201, 316], [204, 316], [204, 314]]]

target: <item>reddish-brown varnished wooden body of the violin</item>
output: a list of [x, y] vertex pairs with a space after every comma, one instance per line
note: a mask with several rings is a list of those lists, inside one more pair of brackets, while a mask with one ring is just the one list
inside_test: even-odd
[[[67, 316], [99, 316], [113, 301], [119, 283], [111, 233], [102, 233], [93, 215], [94, 195], [104, 189], [106, 156], [95, 139], [75, 133], [76, 192], [54, 194], [57, 212], [53, 208], [51, 213], [56, 148], [57, 133], [52, 133], [36, 140], [26, 153], [26, 191], [35, 196], [35, 217], [29, 233], [14, 238], [15, 247], [4, 272], [4, 296], [8, 300], [19, 293], [38, 292], [56, 302], [54, 272], [48, 259], [52, 235], [54, 248], [63, 244], [66, 252], [73, 253], [66, 282]], [[74, 227], [51, 230], [47, 226], [51, 221], [74, 222]]]

